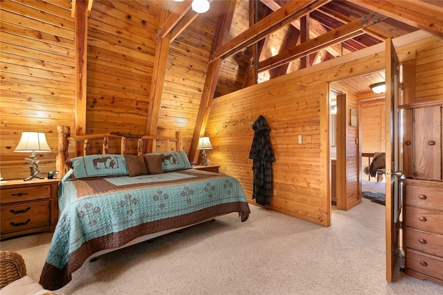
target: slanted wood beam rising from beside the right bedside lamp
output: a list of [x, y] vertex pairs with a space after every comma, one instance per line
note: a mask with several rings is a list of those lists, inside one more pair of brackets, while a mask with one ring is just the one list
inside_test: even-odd
[[[217, 48], [228, 40], [230, 26], [233, 22], [235, 5], [236, 1], [226, 1], [226, 5], [223, 6], [224, 12], [220, 15], [217, 29], [215, 30], [213, 48]], [[210, 106], [213, 103], [215, 88], [217, 87], [221, 62], [221, 59], [217, 59], [217, 61], [210, 63], [208, 66], [208, 74], [206, 75], [203, 93], [201, 93], [199, 113], [197, 114], [197, 120], [195, 122], [194, 133], [192, 135], [189, 150], [189, 158], [192, 159], [191, 161], [197, 161], [199, 158], [199, 153], [197, 153], [199, 137], [204, 136], [206, 131], [206, 124], [208, 124]]]

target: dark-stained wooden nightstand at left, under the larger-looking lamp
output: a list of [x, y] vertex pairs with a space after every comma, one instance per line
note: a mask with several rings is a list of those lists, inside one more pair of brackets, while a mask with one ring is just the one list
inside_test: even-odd
[[0, 184], [1, 240], [54, 231], [58, 219], [59, 180], [8, 180]]

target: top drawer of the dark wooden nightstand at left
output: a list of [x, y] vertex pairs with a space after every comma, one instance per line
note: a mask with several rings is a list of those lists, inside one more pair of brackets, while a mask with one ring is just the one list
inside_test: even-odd
[[51, 197], [51, 185], [39, 185], [35, 187], [13, 187], [1, 189], [1, 204], [23, 202], [29, 200], [48, 199]]

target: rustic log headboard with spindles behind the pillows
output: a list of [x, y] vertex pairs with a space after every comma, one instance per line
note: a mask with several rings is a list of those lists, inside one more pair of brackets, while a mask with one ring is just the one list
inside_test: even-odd
[[60, 178], [69, 170], [66, 166], [66, 160], [69, 160], [69, 144], [74, 144], [75, 153], [74, 157], [80, 155], [90, 154], [90, 141], [102, 140], [102, 153], [106, 154], [109, 151], [110, 140], [120, 140], [120, 155], [125, 155], [127, 140], [137, 140], [137, 154], [143, 153], [155, 153], [156, 146], [159, 142], [163, 142], [164, 151], [172, 151], [171, 143], [175, 142], [175, 151], [183, 150], [183, 139], [181, 132], [176, 131], [175, 138], [163, 137], [156, 135], [143, 135], [141, 137], [134, 135], [123, 135], [120, 133], [101, 133], [101, 134], [87, 134], [87, 135], [75, 135], [71, 136], [70, 126], [57, 126], [58, 134], [58, 149], [57, 159], [55, 160], [55, 166], [60, 173]]

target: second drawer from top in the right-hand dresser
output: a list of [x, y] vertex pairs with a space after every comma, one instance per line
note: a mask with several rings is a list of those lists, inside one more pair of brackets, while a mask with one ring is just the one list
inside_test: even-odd
[[443, 212], [406, 206], [406, 227], [443, 234]]

